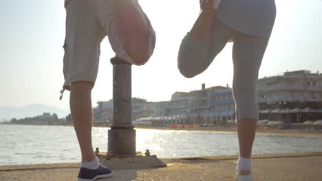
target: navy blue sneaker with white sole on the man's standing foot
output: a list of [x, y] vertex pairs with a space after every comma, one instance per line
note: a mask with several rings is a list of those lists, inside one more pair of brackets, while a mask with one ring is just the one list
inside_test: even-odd
[[98, 178], [109, 178], [113, 175], [113, 171], [100, 165], [98, 169], [85, 169], [81, 168], [78, 173], [77, 181], [93, 181]]

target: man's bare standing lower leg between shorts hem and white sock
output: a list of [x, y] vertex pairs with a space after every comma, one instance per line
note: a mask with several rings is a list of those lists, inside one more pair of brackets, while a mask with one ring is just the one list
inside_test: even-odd
[[92, 146], [92, 88], [92, 82], [74, 82], [70, 90], [70, 111], [81, 147], [82, 162], [89, 162], [95, 158]]

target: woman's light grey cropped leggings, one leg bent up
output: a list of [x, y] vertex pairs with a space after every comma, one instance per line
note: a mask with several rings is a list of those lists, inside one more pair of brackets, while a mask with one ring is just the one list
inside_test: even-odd
[[256, 83], [259, 67], [269, 38], [250, 36], [231, 29], [214, 19], [211, 43], [205, 43], [186, 34], [180, 45], [178, 68], [184, 77], [194, 77], [205, 71], [228, 40], [233, 40], [233, 97], [236, 121], [259, 119], [256, 102]]

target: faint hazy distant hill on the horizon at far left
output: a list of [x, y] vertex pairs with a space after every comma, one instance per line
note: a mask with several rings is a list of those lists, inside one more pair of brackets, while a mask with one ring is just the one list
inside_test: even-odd
[[56, 113], [59, 118], [66, 117], [67, 114], [69, 114], [69, 110], [63, 110], [43, 104], [32, 104], [21, 108], [0, 107], [0, 122], [2, 122], [3, 119], [10, 121], [12, 118], [21, 119], [24, 117], [35, 117], [42, 115], [43, 112], [50, 112], [50, 114]]

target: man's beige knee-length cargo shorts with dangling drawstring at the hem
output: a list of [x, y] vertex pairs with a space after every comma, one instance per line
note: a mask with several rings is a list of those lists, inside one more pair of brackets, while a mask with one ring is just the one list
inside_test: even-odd
[[[138, 0], [133, 1], [142, 10]], [[112, 2], [113, 0], [65, 0], [67, 14], [66, 37], [63, 46], [65, 49], [63, 58], [65, 83], [63, 90], [61, 90], [60, 99], [65, 89], [70, 90], [72, 82], [88, 81], [95, 84], [100, 43], [105, 36], [109, 37], [109, 43], [111, 43], [116, 56], [131, 64], [136, 64], [123, 48], [116, 31]], [[149, 26], [150, 58], [155, 47], [155, 32], [147, 15], [144, 14], [144, 16]]]

